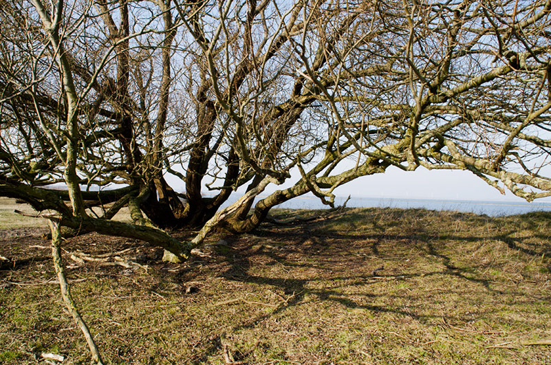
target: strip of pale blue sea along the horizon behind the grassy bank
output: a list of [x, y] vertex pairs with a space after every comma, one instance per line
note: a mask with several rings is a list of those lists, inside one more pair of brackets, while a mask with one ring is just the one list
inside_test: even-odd
[[[262, 199], [259, 197], [257, 199]], [[226, 205], [237, 200], [230, 199]], [[347, 197], [336, 197], [335, 206], [342, 206]], [[347, 208], [424, 208], [428, 210], [449, 210], [455, 212], [472, 212], [486, 214], [490, 217], [506, 215], [526, 214], [529, 212], [551, 211], [551, 201], [467, 201], [453, 199], [400, 199], [387, 197], [350, 197], [346, 203]], [[289, 209], [325, 209], [329, 206], [321, 203], [320, 199], [313, 195], [296, 197], [274, 208]]]

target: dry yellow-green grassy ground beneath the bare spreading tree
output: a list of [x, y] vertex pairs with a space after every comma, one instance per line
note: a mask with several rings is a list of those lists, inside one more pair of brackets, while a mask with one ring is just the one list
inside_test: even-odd
[[[89, 364], [45, 226], [1, 203], [0, 364], [45, 364], [41, 353]], [[105, 362], [551, 364], [550, 213], [367, 208], [296, 221], [319, 214], [277, 210], [286, 224], [219, 232], [184, 265], [140, 241], [67, 239], [74, 298]]]

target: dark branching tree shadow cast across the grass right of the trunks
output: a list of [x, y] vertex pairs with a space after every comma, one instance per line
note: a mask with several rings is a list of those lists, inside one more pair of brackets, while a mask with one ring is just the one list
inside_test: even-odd
[[[423, 214], [434, 214], [431, 212], [418, 212], [422, 220]], [[515, 231], [504, 233], [501, 230], [499, 221], [488, 219], [488, 217], [479, 217], [474, 214], [449, 214], [450, 221], [460, 219], [467, 221], [467, 229], [461, 232], [446, 230], [445, 232], [434, 232], [430, 227], [422, 224], [414, 225], [409, 230], [398, 232], [399, 227], [396, 220], [400, 220], [402, 215], [411, 214], [409, 211], [392, 212], [395, 217], [389, 219], [390, 223], [379, 223], [375, 228], [358, 232], [358, 226], [363, 223], [365, 217], [347, 217], [345, 222], [349, 224], [349, 230], [327, 229], [323, 223], [304, 223], [299, 225], [289, 225], [288, 227], [263, 227], [257, 231], [256, 235], [250, 236], [248, 241], [244, 243], [243, 239], [237, 239], [235, 250], [223, 254], [223, 259], [228, 263], [228, 267], [219, 276], [228, 280], [234, 280], [239, 283], [247, 283], [259, 286], [272, 287], [274, 291], [282, 293], [281, 296], [286, 298], [281, 304], [274, 308], [270, 313], [263, 313], [259, 316], [254, 316], [236, 324], [232, 331], [240, 331], [243, 329], [254, 329], [259, 323], [268, 320], [270, 317], [281, 316], [281, 313], [305, 305], [309, 300], [305, 298], [314, 298], [320, 302], [334, 302], [346, 309], [362, 309], [370, 311], [374, 314], [389, 313], [398, 317], [407, 317], [420, 322], [439, 322], [442, 319], [442, 313], [437, 309], [431, 310], [431, 305], [426, 305], [426, 298], [423, 298], [424, 292], [413, 291], [411, 300], [413, 310], [397, 305], [396, 302], [389, 304], [380, 304], [380, 298], [385, 297], [390, 300], [398, 300], [399, 294], [394, 296], [389, 293], [378, 294], [376, 290], [356, 292], [354, 295], [347, 294], [344, 289], [338, 287], [341, 281], [346, 282], [347, 287], [369, 287], [370, 285], [378, 285], [380, 280], [389, 280], [392, 283], [418, 283], [421, 278], [434, 277], [450, 277], [457, 280], [469, 283], [466, 287], [468, 290], [479, 293], [480, 290], [486, 291], [491, 298], [501, 296], [505, 292], [500, 287], [499, 280], [492, 280], [487, 276], [482, 276], [482, 272], [486, 269], [483, 263], [473, 261], [469, 263], [464, 259], [459, 262], [461, 265], [455, 264], [460, 256], [454, 257], [454, 253], [446, 247], [447, 242], [452, 242], [453, 245], [470, 245], [473, 250], [473, 243], [479, 246], [485, 245], [488, 241], [504, 242], [510, 250], [519, 252], [522, 255], [535, 257], [543, 254], [548, 256], [551, 254], [550, 245], [537, 245], [528, 247], [528, 241], [522, 238], [514, 238], [512, 234]], [[490, 223], [488, 223], [490, 222]], [[444, 222], [444, 225], [447, 223]], [[491, 229], [488, 229], [488, 234], [468, 234], [468, 226], [480, 227], [482, 225], [491, 224]], [[402, 223], [403, 225], [403, 223]], [[394, 227], [394, 230], [391, 230]], [[365, 229], [365, 225], [364, 225]], [[482, 232], [481, 230], [473, 232]], [[534, 233], [530, 238], [539, 239], [539, 234]], [[252, 241], [252, 242], [250, 242]], [[425, 256], [426, 260], [431, 260], [433, 268], [429, 271], [418, 269], [411, 272], [411, 267], [408, 272], [398, 273], [396, 275], [386, 274], [382, 272], [377, 276], [372, 274], [373, 269], [378, 265], [378, 259], [388, 259], [387, 247], [388, 242], [400, 250], [396, 255], [405, 255], [408, 250], [416, 250], [418, 256]], [[383, 244], [384, 243], [384, 244]], [[369, 252], [360, 256], [357, 252]], [[461, 252], [455, 252], [460, 255]], [[369, 258], [369, 259], [368, 259]], [[402, 259], [406, 259], [403, 256]], [[399, 261], [399, 260], [398, 260]], [[385, 261], [386, 262], [386, 261]], [[377, 264], [376, 264], [377, 263]], [[282, 274], [281, 270], [276, 268], [271, 271], [266, 267], [281, 267], [293, 270], [292, 277]], [[263, 266], [262, 274], [258, 274], [258, 267]], [[441, 268], [435, 269], [435, 266]], [[268, 274], [266, 274], [266, 272]], [[476, 274], [479, 273], [479, 274]], [[451, 282], [453, 283], [453, 282]], [[397, 284], [397, 285], [398, 285]], [[321, 287], [319, 287], [321, 285]], [[396, 285], [396, 286], [397, 286]], [[475, 285], [473, 287], [472, 285]], [[480, 289], [476, 289], [479, 286]], [[446, 296], [459, 296], [464, 293], [462, 290], [453, 286], [449, 288], [440, 288], [439, 294], [444, 298]], [[509, 296], [522, 296], [520, 289], [507, 289]], [[475, 293], [476, 294], [476, 293]], [[475, 303], [477, 298], [469, 298], [463, 302], [464, 306], [468, 306], [470, 302]], [[418, 307], [415, 308], [415, 303]], [[446, 305], [446, 303], [444, 303]], [[495, 316], [498, 309], [491, 305], [477, 307], [473, 305], [471, 314], [477, 318], [491, 318]], [[463, 318], [462, 312], [457, 312], [453, 315], [453, 311], [446, 314], [446, 320], [456, 323], [464, 323], [472, 318]], [[221, 347], [219, 339], [210, 340], [210, 345], [204, 349], [203, 355], [200, 357], [204, 361], [210, 355], [219, 353]], [[243, 359], [246, 360], [246, 359]], [[195, 364], [201, 363], [195, 362]]]

